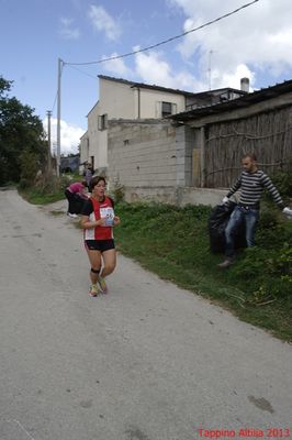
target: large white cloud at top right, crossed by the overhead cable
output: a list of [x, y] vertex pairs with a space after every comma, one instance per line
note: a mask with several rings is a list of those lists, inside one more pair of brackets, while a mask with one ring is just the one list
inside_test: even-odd
[[[168, 0], [186, 16], [182, 32], [190, 31], [211, 20], [240, 8], [242, 0]], [[268, 72], [274, 77], [292, 67], [292, 2], [281, 0], [281, 8], [273, 0], [265, 0], [245, 8], [200, 31], [181, 38], [177, 50], [184, 61], [199, 55], [199, 76], [203, 78], [209, 69], [209, 54], [212, 55], [214, 85], [223, 77], [231, 78], [240, 66], [251, 74]], [[216, 74], [216, 75], [215, 75]], [[218, 82], [215, 81], [218, 80]], [[238, 88], [238, 86], [237, 86]]]

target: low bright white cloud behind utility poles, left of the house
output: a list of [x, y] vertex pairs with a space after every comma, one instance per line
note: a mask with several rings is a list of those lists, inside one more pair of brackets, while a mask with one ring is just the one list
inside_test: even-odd
[[[47, 133], [47, 119], [43, 120], [44, 129]], [[80, 138], [85, 134], [85, 130], [80, 127], [71, 125], [65, 121], [60, 121], [60, 154], [78, 153]], [[53, 154], [57, 153], [57, 119], [50, 119], [50, 136]]]

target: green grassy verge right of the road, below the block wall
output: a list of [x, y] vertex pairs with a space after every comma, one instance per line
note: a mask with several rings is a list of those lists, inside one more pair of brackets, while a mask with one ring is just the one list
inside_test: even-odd
[[233, 311], [238, 318], [292, 341], [292, 221], [262, 211], [258, 245], [239, 252], [227, 271], [210, 252], [210, 207], [117, 204], [120, 251], [161, 278]]

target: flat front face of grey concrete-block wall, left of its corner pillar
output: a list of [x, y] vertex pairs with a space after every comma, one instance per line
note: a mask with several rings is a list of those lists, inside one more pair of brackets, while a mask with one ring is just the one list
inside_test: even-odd
[[136, 188], [177, 184], [176, 131], [170, 122], [110, 122], [108, 154], [111, 182]]

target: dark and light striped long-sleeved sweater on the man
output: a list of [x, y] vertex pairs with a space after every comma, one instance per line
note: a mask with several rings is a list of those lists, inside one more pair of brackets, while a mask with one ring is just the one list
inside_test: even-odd
[[283, 201], [277, 188], [273, 186], [271, 179], [260, 169], [257, 169], [255, 173], [247, 173], [244, 170], [234, 186], [229, 189], [227, 197], [231, 197], [239, 188], [242, 190], [239, 204], [244, 206], [259, 207], [259, 199], [263, 188], [267, 188], [274, 202], [280, 208], [283, 207]]

